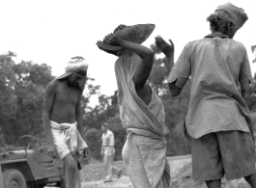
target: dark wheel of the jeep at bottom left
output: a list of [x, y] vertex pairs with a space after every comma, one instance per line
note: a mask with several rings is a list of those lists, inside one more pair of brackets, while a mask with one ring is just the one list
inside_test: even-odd
[[3, 182], [5, 188], [27, 188], [25, 177], [14, 169], [3, 173]]

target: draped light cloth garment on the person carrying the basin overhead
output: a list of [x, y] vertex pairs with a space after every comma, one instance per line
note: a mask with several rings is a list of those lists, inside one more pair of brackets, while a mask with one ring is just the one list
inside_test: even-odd
[[153, 89], [148, 105], [137, 95], [132, 77], [140, 64], [135, 53], [121, 55], [115, 64], [120, 119], [129, 132], [122, 155], [134, 188], [167, 188], [164, 108]]

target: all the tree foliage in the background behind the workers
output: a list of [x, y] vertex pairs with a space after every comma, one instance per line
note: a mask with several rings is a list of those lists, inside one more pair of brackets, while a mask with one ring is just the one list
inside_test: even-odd
[[[152, 45], [152, 48], [156, 53], [160, 53], [155, 45]], [[13, 52], [0, 56], [0, 147], [22, 144], [19, 142], [21, 135], [44, 136], [42, 121], [44, 91], [46, 85], [54, 78], [51, 67], [26, 61], [16, 64], [13, 61], [14, 56]], [[164, 66], [165, 61], [164, 58], [155, 59], [148, 83], [164, 105], [167, 155], [187, 154], [190, 152], [190, 142], [184, 136], [184, 121], [189, 101], [190, 81], [188, 80], [179, 96], [172, 97], [165, 81], [169, 73]], [[94, 94], [99, 95], [99, 104], [91, 107], [89, 104]], [[245, 94], [245, 101], [250, 110], [256, 110], [255, 84]], [[94, 84], [93, 78], [89, 78], [81, 106], [84, 112], [85, 138], [91, 150], [91, 157], [102, 159], [100, 125], [107, 121], [115, 135], [115, 160], [121, 160], [127, 132], [120, 120], [117, 92], [111, 96], [100, 94], [100, 86]]]

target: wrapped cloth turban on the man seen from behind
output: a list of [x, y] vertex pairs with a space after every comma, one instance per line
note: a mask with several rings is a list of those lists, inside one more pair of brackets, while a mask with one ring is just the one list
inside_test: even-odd
[[240, 29], [248, 19], [247, 14], [244, 13], [242, 8], [238, 8], [229, 2], [218, 6], [215, 10], [215, 13], [221, 13], [222, 15], [229, 17], [230, 20], [237, 25], [238, 29]]

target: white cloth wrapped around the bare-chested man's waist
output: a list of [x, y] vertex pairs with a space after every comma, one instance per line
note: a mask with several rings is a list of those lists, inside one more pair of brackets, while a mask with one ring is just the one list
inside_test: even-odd
[[50, 121], [53, 143], [57, 149], [58, 156], [63, 159], [68, 153], [82, 153], [87, 144], [77, 130], [77, 123], [61, 123]]

